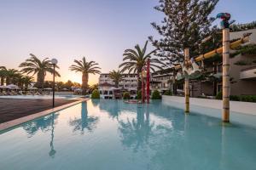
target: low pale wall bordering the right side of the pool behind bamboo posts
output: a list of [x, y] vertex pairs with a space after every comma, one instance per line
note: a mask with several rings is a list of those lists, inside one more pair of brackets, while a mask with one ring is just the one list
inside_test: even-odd
[[[164, 105], [184, 109], [184, 97], [162, 96]], [[190, 115], [202, 114], [221, 119], [222, 100], [190, 98]], [[230, 101], [230, 122], [256, 127], [256, 103]]]

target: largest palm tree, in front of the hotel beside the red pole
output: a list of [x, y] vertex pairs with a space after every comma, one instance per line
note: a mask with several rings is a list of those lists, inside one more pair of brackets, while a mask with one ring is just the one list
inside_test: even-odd
[[143, 48], [140, 48], [140, 46], [137, 44], [135, 46], [135, 49], [125, 49], [125, 53], [123, 54], [124, 62], [119, 65], [119, 68], [122, 67], [121, 72], [128, 71], [129, 74], [131, 72], [137, 73], [137, 90], [140, 90], [142, 88], [142, 83], [139, 79], [139, 76], [140, 73], [143, 71], [143, 67], [146, 65], [148, 59], [150, 59], [151, 71], [154, 71], [155, 67], [162, 69], [160, 65], [164, 65], [162, 62], [160, 62], [159, 59], [151, 59], [150, 55], [154, 54], [155, 50], [146, 54], [147, 46], [148, 41], [145, 42]]

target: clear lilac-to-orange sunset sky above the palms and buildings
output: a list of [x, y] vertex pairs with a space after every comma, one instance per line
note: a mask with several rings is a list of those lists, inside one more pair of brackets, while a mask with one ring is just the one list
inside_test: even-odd
[[[125, 48], [158, 37], [150, 25], [163, 15], [158, 0], [0, 0], [0, 65], [18, 69], [35, 54], [58, 59], [56, 81], [81, 82], [69, 71], [73, 59], [95, 60], [102, 72], [118, 69]], [[212, 13], [230, 12], [236, 23], [256, 20], [256, 1], [220, 0]], [[148, 47], [148, 50], [152, 47]], [[46, 77], [51, 80], [50, 75]], [[98, 76], [90, 75], [90, 84]]]

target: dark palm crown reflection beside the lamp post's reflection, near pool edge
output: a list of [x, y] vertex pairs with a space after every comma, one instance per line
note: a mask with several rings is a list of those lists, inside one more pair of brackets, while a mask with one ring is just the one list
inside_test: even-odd
[[56, 119], [59, 114], [44, 116], [44, 118], [36, 119], [32, 122], [27, 122], [25, 125], [22, 125], [26, 133], [29, 134], [29, 137], [32, 137], [35, 133], [41, 129], [43, 132], [49, 131], [49, 127], [52, 125], [52, 119]]

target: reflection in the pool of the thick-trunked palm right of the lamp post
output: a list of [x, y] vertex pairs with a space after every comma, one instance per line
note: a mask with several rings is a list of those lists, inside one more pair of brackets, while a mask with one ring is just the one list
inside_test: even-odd
[[87, 111], [87, 103], [82, 103], [81, 109], [81, 118], [74, 118], [69, 121], [69, 124], [73, 126], [73, 132], [81, 131], [84, 133], [84, 128], [86, 128], [89, 132], [92, 132], [94, 128], [96, 128], [96, 123], [99, 121], [99, 118], [96, 116], [88, 116]]

